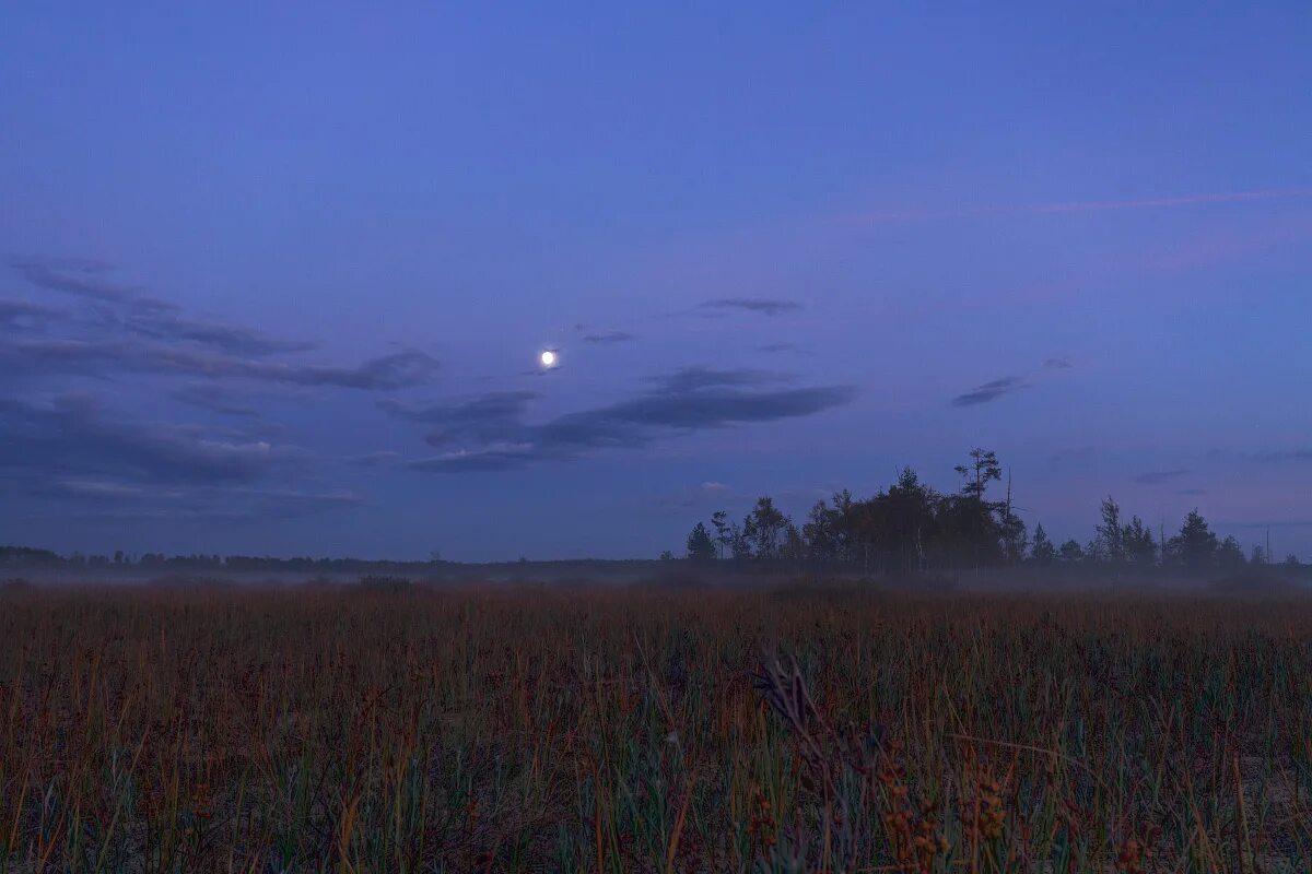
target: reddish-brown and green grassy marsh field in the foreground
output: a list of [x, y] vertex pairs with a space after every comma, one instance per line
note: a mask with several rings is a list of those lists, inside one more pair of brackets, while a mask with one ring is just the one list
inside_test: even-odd
[[0, 871], [1307, 871], [1312, 601], [0, 591]]

